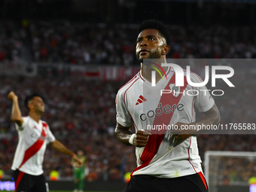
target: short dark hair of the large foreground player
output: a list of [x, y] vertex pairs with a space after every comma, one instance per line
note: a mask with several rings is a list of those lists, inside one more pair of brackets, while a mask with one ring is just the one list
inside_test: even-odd
[[157, 29], [163, 38], [166, 38], [166, 44], [169, 45], [171, 42], [171, 33], [168, 26], [160, 20], [144, 20], [139, 26], [139, 33], [144, 29]]

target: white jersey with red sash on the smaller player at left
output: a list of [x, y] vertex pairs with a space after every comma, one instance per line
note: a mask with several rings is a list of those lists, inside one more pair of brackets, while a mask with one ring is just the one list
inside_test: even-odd
[[11, 169], [19, 169], [29, 175], [41, 175], [44, 172], [42, 163], [46, 146], [53, 142], [55, 137], [45, 121], [39, 120], [37, 123], [29, 116], [23, 117], [23, 120], [22, 126], [15, 123], [19, 142]]

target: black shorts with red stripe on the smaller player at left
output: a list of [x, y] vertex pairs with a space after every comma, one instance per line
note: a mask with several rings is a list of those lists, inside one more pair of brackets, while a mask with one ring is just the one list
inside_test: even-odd
[[20, 170], [13, 172], [15, 181], [15, 192], [47, 192], [44, 174], [42, 175], [29, 175]]

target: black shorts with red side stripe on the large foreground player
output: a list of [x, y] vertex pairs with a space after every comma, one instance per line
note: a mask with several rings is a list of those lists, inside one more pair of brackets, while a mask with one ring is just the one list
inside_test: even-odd
[[202, 172], [178, 178], [133, 175], [123, 192], [208, 192], [208, 186]]

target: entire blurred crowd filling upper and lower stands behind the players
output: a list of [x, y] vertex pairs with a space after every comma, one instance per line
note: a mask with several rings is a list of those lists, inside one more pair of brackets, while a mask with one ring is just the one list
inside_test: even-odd
[[[256, 33], [252, 28], [172, 26], [172, 43], [169, 58], [255, 58]], [[61, 62], [74, 65], [138, 65], [135, 56], [136, 27], [109, 27], [103, 24], [69, 22], [37, 22], [17, 25], [0, 22], [0, 65], [26, 59], [32, 62]], [[23, 53], [26, 46], [26, 53]], [[29, 57], [28, 57], [29, 58]], [[65, 65], [64, 64], [64, 65]], [[252, 66], [253, 67], [253, 66]], [[252, 69], [252, 68], [251, 68]], [[250, 72], [250, 68], [247, 69]], [[221, 123], [255, 123], [255, 76], [240, 75], [233, 79], [236, 89], [219, 84], [224, 96], [215, 96], [221, 112]], [[246, 81], [247, 84], [243, 82]], [[87, 180], [122, 180], [125, 172], [136, 167], [135, 149], [122, 145], [114, 136], [114, 99], [124, 81], [86, 81], [81, 78], [1, 77], [0, 81], [0, 169], [11, 175], [11, 163], [18, 136], [11, 123], [9, 91], [19, 96], [22, 114], [28, 111], [23, 100], [29, 93], [39, 93], [46, 102], [46, 120], [56, 139], [72, 151], [81, 149], [87, 156]], [[226, 91], [227, 90], [227, 91]], [[241, 92], [237, 92], [241, 90]], [[200, 117], [200, 116], [199, 116]], [[205, 151], [256, 151], [254, 135], [200, 135], [197, 136], [200, 156]], [[223, 163], [228, 161], [223, 160]], [[245, 163], [246, 164], [246, 163]], [[248, 167], [247, 167], [248, 166]], [[230, 167], [230, 166], [225, 166]], [[245, 165], [245, 172], [232, 177], [233, 169], [225, 174], [224, 181], [242, 180], [256, 175], [256, 167]], [[69, 157], [50, 147], [44, 157], [44, 171], [57, 170], [60, 177], [72, 177]]]

